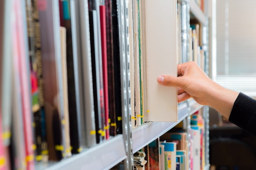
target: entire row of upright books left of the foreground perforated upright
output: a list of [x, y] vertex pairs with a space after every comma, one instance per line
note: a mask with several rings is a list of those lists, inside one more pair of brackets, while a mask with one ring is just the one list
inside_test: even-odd
[[122, 134], [117, 0], [0, 8], [0, 168], [33, 170]]

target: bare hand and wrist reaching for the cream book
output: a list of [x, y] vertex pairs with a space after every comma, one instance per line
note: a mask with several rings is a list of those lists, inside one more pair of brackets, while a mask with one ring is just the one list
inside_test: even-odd
[[178, 77], [161, 75], [157, 82], [178, 88], [178, 102], [193, 98], [200, 105], [209, 105], [229, 118], [238, 92], [226, 89], [212, 81], [198, 65], [191, 61], [177, 66]]

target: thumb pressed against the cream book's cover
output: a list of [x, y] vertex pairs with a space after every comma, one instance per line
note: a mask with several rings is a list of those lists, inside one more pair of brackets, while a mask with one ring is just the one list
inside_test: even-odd
[[161, 85], [165, 86], [176, 86], [182, 87], [182, 77], [175, 77], [175, 76], [168, 76], [168, 75], [161, 75], [157, 77], [157, 82]]

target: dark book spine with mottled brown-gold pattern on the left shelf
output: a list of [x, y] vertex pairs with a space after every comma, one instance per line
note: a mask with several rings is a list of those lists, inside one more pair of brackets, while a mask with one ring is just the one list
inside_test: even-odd
[[42, 159], [47, 161], [48, 149], [46, 140], [46, 123], [45, 123], [45, 90], [44, 90], [44, 80], [43, 80], [43, 61], [42, 61], [42, 51], [41, 51], [41, 37], [40, 37], [40, 22], [39, 22], [39, 12], [37, 0], [33, 0], [34, 5], [34, 50], [36, 57], [36, 76], [38, 82], [38, 101], [40, 105], [40, 130], [41, 130], [41, 149], [42, 149]]

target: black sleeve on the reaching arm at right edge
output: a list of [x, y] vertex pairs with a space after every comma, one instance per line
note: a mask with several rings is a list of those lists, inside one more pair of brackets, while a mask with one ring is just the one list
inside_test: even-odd
[[256, 136], [256, 100], [239, 93], [229, 116], [229, 122]]

